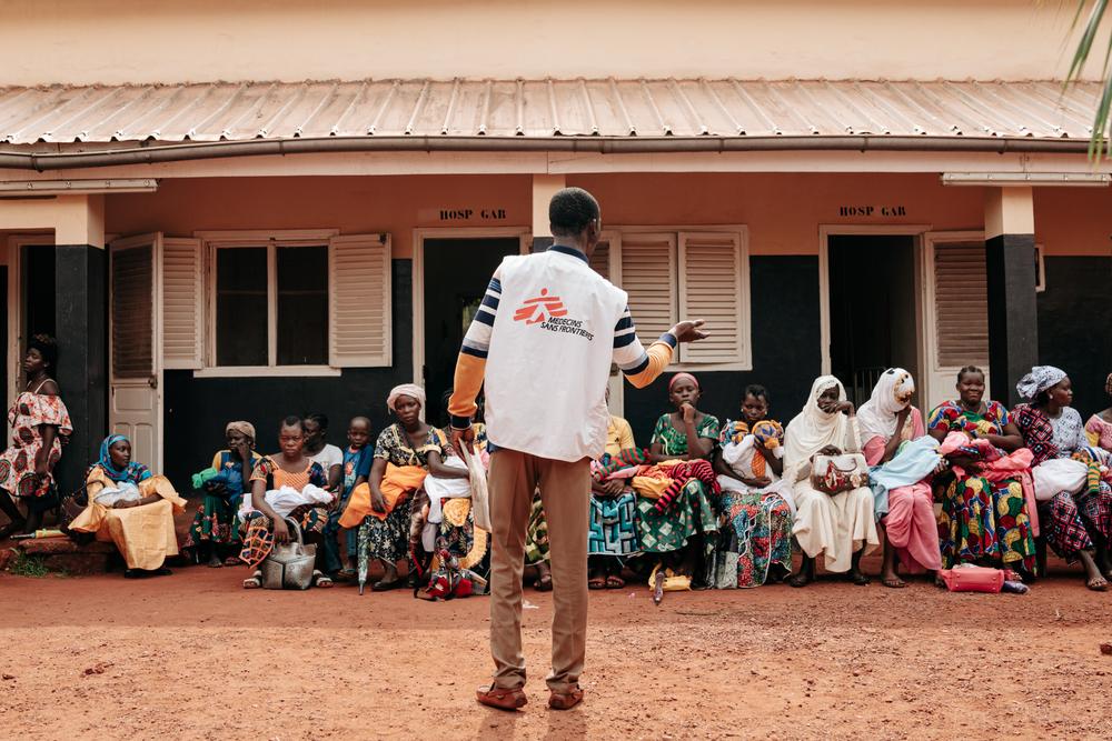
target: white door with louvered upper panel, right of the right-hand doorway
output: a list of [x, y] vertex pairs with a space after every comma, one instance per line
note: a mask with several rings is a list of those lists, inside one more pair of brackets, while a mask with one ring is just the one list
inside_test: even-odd
[[[977, 366], [989, 383], [989, 286], [984, 234], [927, 232], [923, 238], [921, 399], [927, 412], [956, 397], [957, 371]], [[991, 388], [991, 387], [990, 387]]]

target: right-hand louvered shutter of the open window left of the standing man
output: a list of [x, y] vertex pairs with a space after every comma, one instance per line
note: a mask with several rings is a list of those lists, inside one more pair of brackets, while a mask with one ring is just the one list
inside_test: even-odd
[[328, 243], [328, 362], [391, 364], [389, 234], [334, 237]]

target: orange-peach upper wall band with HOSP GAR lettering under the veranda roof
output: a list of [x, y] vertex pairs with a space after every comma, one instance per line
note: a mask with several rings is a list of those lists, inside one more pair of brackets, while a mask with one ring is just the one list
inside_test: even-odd
[[[922, 224], [981, 230], [984, 191], [944, 188], [935, 174], [623, 173], [570, 176], [592, 191], [604, 226], [747, 224], [753, 254], [814, 254], [820, 224]], [[873, 209], [842, 216], [842, 207]], [[904, 209], [884, 216], [882, 208]], [[440, 210], [471, 210], [443, 221]], [[483, 218], [483, 210], [505, 218]], [[529, 176], [166, 179], [156, 193], [107, 198], [106, 231], [188, 236], [214, 229], [386, 231], [413, 254], [417, 227], [524, 227]], [[497, 216], [492, 213], [490, 216]], [[1112, 190], [1035, 189], [1035, 238], [1046, 254], [1112, 254]]]

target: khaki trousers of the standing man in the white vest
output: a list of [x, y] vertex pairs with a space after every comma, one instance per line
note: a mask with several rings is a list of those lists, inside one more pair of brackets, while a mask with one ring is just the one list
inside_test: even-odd
[[522, 571], [533, 492], [548, 520], [553, 574], [553, 661], [547, 682], [554, 692], [576, 685], [587, 650], [587, 531], [590, 459], [575, 463], [516, 450], [490, 455], [490, 654], [494, 684], [525, 684], [522, 651]]

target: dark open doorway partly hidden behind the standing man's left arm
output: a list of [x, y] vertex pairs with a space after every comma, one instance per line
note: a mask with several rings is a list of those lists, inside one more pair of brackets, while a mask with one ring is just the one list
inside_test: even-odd
[[478, 310], [490, 276], [507, 254], [518, 254], [522, 241], [506, 238], [424, 240], [425, 393], [429, 423], [447, 424], [441, 398], [451, 388], [456, 358], [467, 327]]

